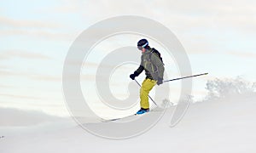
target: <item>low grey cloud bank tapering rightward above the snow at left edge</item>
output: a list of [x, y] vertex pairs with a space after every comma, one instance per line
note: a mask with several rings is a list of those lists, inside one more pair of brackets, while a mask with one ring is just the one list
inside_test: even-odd
[[61, 117], [49, 116], [41, 111], [24, 111], [0, 107], [0, 126], [32, 126], [43, 122], [57, 122]]

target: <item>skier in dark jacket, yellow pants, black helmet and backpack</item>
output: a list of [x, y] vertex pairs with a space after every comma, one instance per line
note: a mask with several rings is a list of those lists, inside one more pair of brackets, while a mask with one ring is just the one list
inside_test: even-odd
[[140, 89], [140, 105], [141, 109], [137, 111], [137, 114], [143, 114], [149, 111], [148, 94], [154, 85], [160, 85], [163, 83], [165, 67], [160, 57], [160, 53], [155, 48], [150, 48], [147, 39], [141, 39], [137, 42], [137, 48], [142, 51], [141, 64], [130, 75], [134, 80], [143, 71], [145, 71], [146, 78], [143, 81]]

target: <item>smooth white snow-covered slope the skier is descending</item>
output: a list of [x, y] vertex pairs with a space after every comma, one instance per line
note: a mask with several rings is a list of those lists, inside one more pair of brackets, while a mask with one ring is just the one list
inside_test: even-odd
[[[253, 153], [256, 152], [255, 108], [255, 94], [208, 100], [190, 105], [183, 120], [170, 127], [172, 107], [148, 132], [119, 140], [96, 137], [72, 119], [34, 126], [4, 125], [0, 128], [0, 152]], [[93, 124], [104, 129], [106, 122]]]

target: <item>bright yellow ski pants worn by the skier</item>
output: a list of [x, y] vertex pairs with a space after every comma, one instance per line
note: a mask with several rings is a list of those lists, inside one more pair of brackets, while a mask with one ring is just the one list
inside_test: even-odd
[[148, 103], [148, 94], [152, 88], [154, 88], [154, 85], [157, 81], [151, 80], [151, 79], [145, 79], [143, 81], [142, 88], [140, 90], [140, 98], [141, 98], [141, 108], [148, 109], [149, 103]]

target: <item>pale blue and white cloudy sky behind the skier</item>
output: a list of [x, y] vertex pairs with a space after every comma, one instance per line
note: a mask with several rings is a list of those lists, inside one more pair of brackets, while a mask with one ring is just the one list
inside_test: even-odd
[[[206, 94], [208, 79], [241, 76], [255, 82], [255, 7], [253, 0], [1, 2], [0, 106], [67, 116], [61, 75], [69, 47], [96, 22], [127, 14], [147, 17], [168, 27], [183, 44], [193, 73], [209, 72], [207, 77], [194, 79], [196, 98]], [[137, 43], [137, 36], [130, 38], [113, 38], [108, 45], [100, 44], [99, 49]], [[155, 42], [151, 44], [157, 46]], [[96, 70], [98, 61], [90, 62]], [[178, 77], [177, 68], [171, 63], [166, 65], [168, 77]], [[117, 94], [120, 97], [130, 82], [129, 71], [122, 73], [122, 81], [127, 83], [119, 90], [124, 91]], [[176, 92], [172, 88], [172, 93]]]

